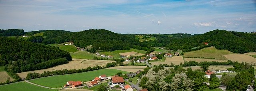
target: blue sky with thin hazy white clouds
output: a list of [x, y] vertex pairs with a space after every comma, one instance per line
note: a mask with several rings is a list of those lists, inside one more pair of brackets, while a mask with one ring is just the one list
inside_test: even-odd
[[120, 34], [256, 32], [256, 0], [0, 0], [0, 28]]

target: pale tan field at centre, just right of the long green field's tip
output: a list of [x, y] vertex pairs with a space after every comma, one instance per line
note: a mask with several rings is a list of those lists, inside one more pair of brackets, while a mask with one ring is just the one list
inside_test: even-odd
[[146, 66], [115, 66], [115, 67], [109, 67], [107, 69], [117, 69], [121, 71], [127, 71], [127, 72], [136, 72], [136, 71], [143, 71], [143, 69], [146, 68]]

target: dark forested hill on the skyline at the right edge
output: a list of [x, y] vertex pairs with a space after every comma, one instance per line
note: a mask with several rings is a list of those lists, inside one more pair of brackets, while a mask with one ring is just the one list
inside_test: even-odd
[[174, 39], [166, 45], [169, 49], [183, 49], [189, 51], [193, 47], [214, 46], [216, 49], [227, 49], [234, 53], [256, 51], [256, 34], [243, 32], [229, 32], [226, 30], [213, 30], [202, 35], [189, 38]]

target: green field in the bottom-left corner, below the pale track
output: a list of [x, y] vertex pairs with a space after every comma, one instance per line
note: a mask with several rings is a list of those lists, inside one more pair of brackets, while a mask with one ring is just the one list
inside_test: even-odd
[[47, 89], [26, 82], [0, 85], [0, 91], [58, 91], [58, 89]]

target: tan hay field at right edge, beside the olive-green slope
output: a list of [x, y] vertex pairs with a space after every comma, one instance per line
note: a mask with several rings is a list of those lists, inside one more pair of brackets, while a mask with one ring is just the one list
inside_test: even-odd
[[254, 58], [250, 55], [246, 55], [246, 54], [229, 54], [229, 55], [224, 55], [224, 56], [227, 57], [228, 59], [230, 59], [231, 61], [238, 61], [240, 63], [242, 63], [242, 62], [247, 62], [247, 63], [256, 62], [256, 58]]

